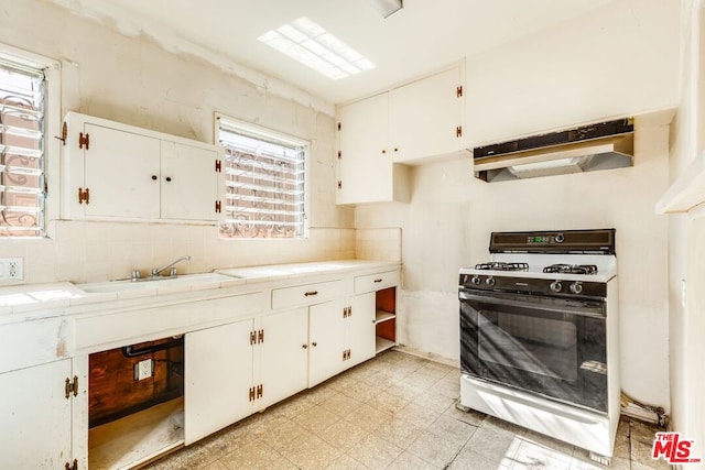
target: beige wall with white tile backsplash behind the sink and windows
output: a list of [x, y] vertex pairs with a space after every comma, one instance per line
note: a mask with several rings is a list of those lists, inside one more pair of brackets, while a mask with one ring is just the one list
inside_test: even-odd
[[[62, 118], [74, 110], [213, 142], [214, 111], [219, 111], [312, 142], [308, 240], [218, 240], [208, 226], [52, 221], [51, 240], [0, 240], [0, 256], [24, 258], [25, 281], [126, 277], [132, 269], [183, 254], [192, 255], [182, 265], [185, 272], [354, 258], [354, 211], [335, 205], [332, 106], [315, 106], [319, 99], [292, 87], [283, 90], [281, 83], [276, 88], [285, 92], [273, 95], [273, 79], [247, 81], [186, 53], [165, 51], [148, 36], [119, 34], [115, 24], [42, 0], [3, 2], [1, 14], [0, 43], [61, 61]], [[51, 189], [48, 204], [56, 207], [58, 190]]]

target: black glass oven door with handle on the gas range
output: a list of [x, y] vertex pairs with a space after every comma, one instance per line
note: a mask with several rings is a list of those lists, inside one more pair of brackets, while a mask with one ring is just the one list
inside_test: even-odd
[[603, 299], [460, 288], [463, 373], [607, 413]]

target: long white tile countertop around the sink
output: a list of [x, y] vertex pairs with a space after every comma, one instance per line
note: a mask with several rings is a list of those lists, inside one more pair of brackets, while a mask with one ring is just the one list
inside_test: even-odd
[[[199, 282], [194, 285], [180, 283], [169, 284], [169, 281], [154, 281], [150, 285], [142, 284], [140, 288], [106, 289], [104, 292], [87, 292], [91, 286], [110, 285], [110, 282], [73, 284], [57, 282], [50, 284], [18, 284], [0, 287], [0, 324], [18, 320], [32, 320], [67, 314], [66, 309], [74, 306], [98, 304], [113, 300], [127, 300], [154, 297], [159, 295], [207, 291], [221, 287], [236, 287], [263, 282], [276, 282], [307, 275], [321, 275], [335, 272], [367, 271], [380, 269], [398, 269], [400, 262], [340, 260], [318, 261], [295, 264], [271, 264], [249, 267], [218, 269], [215, 273], [230, 276], [228, 280]], [[123, 281], [115, 281], [120, 283]], [[128, 281], [129, 282], [129, 281]], [[160, 284], [164, 283], [164, 284]], [[83, 288], [82, 288], [83, 287]], [[145, 298], [147, 302], [147, 298]]]

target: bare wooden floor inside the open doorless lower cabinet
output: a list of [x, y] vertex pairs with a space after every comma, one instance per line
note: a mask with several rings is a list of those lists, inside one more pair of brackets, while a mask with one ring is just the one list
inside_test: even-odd
[[184, 444], [184, 400], [178, 397], [88, 431], [88, 468], [129, 469]]

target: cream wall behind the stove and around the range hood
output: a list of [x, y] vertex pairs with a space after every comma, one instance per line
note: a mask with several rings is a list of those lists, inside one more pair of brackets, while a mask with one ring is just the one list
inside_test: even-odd
[[[616, 1], [468, 57], [475, 143], [640, 114], [677, 103], [677, 2]], [[670, 407], [668, 219], [672, 112], [637, 118], [634, 166], [486, 184], [468, 159], [414, 167], [410, 204], [359, 206], [357, 228], [402, 228], [401, 342], [457, 360], [457, 273], [497, 230], [617, 229], [622, 387]], [[648, 274], [647, 274], [648, 273]]]

